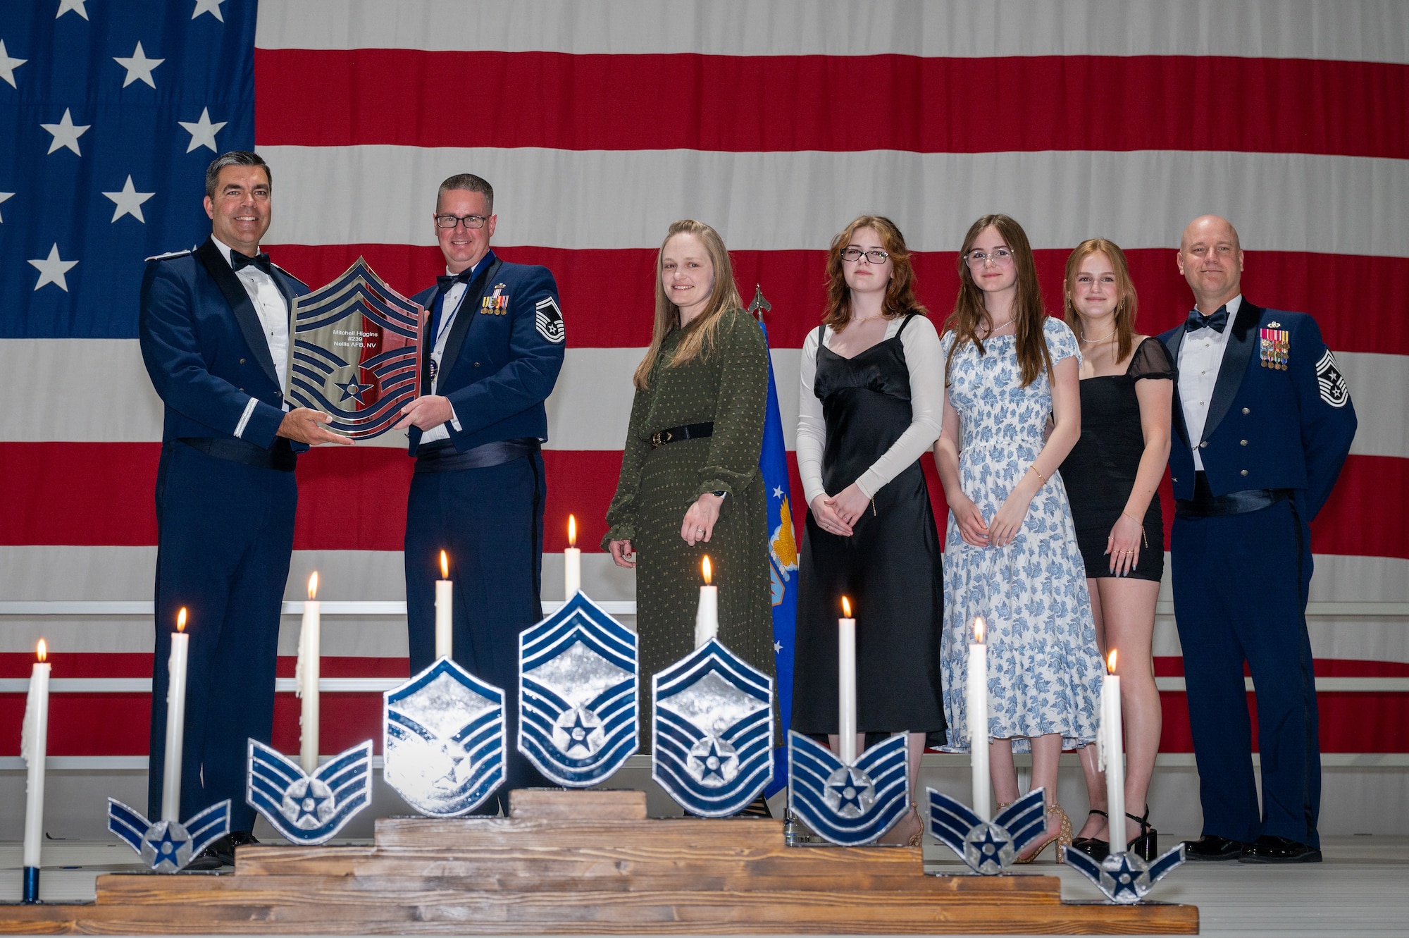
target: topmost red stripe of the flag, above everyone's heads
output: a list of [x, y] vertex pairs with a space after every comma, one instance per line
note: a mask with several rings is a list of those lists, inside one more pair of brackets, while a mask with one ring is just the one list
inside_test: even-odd
[[[473, 76], [472, 120], [449, 75]], [[1208, 108], [1213, 87], [1239, 93]], [[255, 49], [255, 96], [261, 146], [1409, 156], [1382, 120], [1409, 113], [1409, 68], [1379, 62]]]

